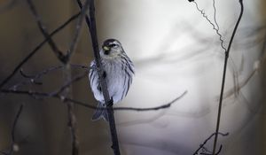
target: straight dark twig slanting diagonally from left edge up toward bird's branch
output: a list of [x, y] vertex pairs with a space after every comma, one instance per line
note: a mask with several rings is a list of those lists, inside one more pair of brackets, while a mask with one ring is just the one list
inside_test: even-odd
[[[52, 37], [53, 35], [56, 35], [60, 30], [62, 30], [64, 27], [66, 27], [71, 21], [76, 19], [80, 15], [80, 12], [74, 14], [70, 19], [67, 19], [65, 23], [63, 23], [61, 26], [56, 28], [49, 36]], [[32, 58], [37, 51], [39, 51], [45, 43], [47, 43], [49, 38], [45, 38], [42, 43], [39, 43], [34, 50], [32, 50], [29, 54], [27, 54], [26, 58], [23, 58], [20, 63], [13, 69], [12, 74], [9, 74], [4, 81], [0, 83], [0, 88], [3, 89], [4, 85], [12, 79], [12, 77], [20, 70], [20, 67], [23, 66], [29, 58]]]

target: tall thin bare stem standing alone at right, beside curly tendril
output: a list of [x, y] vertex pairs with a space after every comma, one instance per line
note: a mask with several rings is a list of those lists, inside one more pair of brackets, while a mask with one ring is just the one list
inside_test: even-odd
[[239, 0], [239, 4], [241, 7], [240, 14], [239, 14], [239, 19], [234, 27], [234, 30], [231, 35], [231, 40], [228, 45], [227, 50], [225, 51], [225, 58], [224, 58], [224, 66], [223, 66], [223, 79], [222, 79], [222, 87], [221, 87], [221, 93], [220, 93], [220, 99], [219, 99], [219, 107], [218, 107], [218, 114], [217, 114], [217, 121], [216, 121], [216, 129], [215, 129], [215, 141], [214, 141], [214, 146], [213, 146], [213, 155], [215, 155], [215, 150], [216, 150], [216, 144], [217, 144], [217, 138], [218, 138], [218, 133], [219, 133], [219, 128], [220, 128], [220, 120], [221, 120], [221, 112], [222, 112], [222, 105], [223, 105], [223, 89], [224, 89], [224, 83], [225, 83], [225, 75], [226, 75], [226, 68], [227, 68], [227, 61], [229, 58], [229, 53], [231, 50], [231, 43], [234, 39], [234, 36], [236, 35], [237, 29], [239, 27], [239, 22], [242, 19], [242, 15], [244, 12], [244, 6], [243, 6], [243, 0]]

